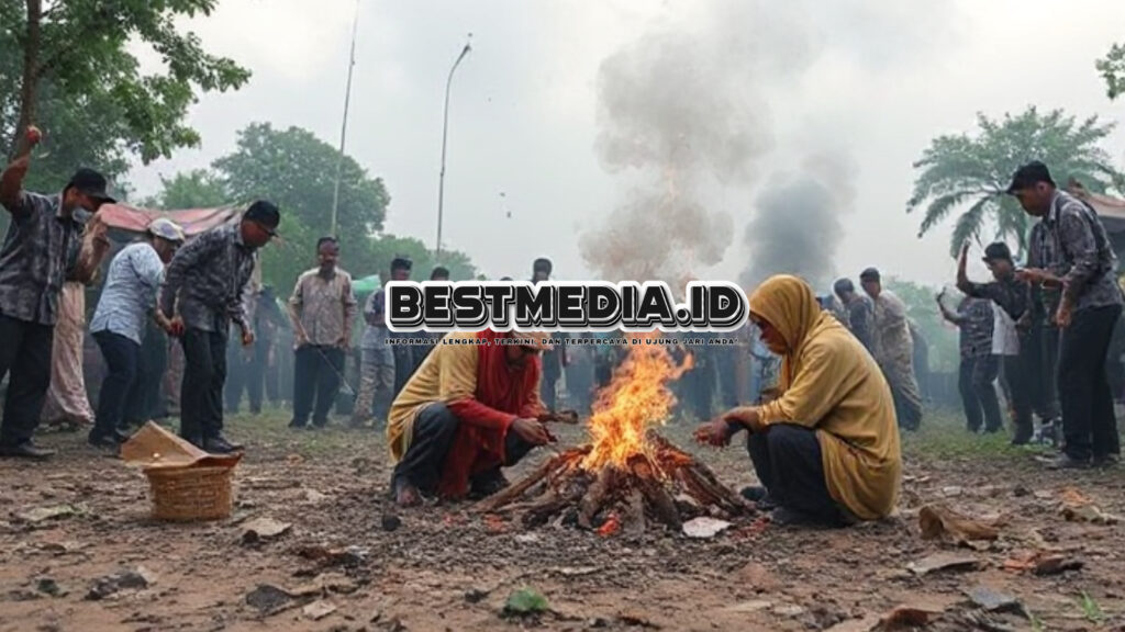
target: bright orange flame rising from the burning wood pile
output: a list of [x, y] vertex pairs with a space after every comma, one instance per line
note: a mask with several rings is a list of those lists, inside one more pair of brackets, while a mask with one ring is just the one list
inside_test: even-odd
[[676, 403], [667, 385], [693, 365], [690, 354], [676, 365], [667, 345], [650, 342], [655, 335], [631, 340], [629, 356], [598, 391], [587, 424], [593, 445], [582, 461], [584, 469], [596, 471], [606, 463], [623, 469], [630, 457], [650, 457], [645, 433], [654, 424], [664, 425]]

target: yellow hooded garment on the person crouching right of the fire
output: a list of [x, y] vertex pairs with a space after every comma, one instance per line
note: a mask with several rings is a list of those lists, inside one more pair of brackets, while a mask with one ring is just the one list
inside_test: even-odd
[[894, 401], [879, 365], [796, 277], [773, 277], [750, 296], [750, 312], [792, 350], [781, 396], [758, 412], [766, 424], [817, 430], [828, 491], [863, 520], [889, 515], [899, 496], [902, 455]]

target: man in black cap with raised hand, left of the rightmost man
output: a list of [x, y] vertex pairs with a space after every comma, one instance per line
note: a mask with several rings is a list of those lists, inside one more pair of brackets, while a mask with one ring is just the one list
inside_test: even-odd
[[[969, 280], [969, 244], [961, 247], [957, 261], [957, 289], [966, 296], [991, 300], [1015, 322], [1019, 322], [1027, 312], [1027, 299], [1030, 285], [1016, 277], [1016, 263], [1011, 250], [1004, 242], [989, 244], [984, 249], [984, 264], [992, 272], [992, 282], [974, 283]], [[1032, 440], [1034, 426], [1032, 423], [1032, 376], [1034, 374], [1032, 345], [1027, 341], [1027, 332], [1019, 332], [1019, 354], [1004, 356], [1004, 376], [1011, 390], [1011, 407], [1016, 414], [1016, 433], [1012, 445], [1024, 445]], [[994, 335], [1001, 335], [996, 332]], [[1047, 419], [1044, 419], [1047, 421]]]

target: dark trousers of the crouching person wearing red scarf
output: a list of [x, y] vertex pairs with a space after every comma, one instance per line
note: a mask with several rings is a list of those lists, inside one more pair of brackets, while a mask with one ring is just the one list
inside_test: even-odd
[[[411, 436], [411, 446], [403, 454], [403, 459], [395, 466], [394, 475], [390, 479], [390, 489], [397, 489], [400, 482], [408, 482], [416, 487], [418, 491], [432, 495], [438, 490], [441, 482], [441, 473], [446, 464], [446, 457], [449, 455], [453, 446], [453, 439], [457, 435], [457, 425], [461, 421], [444, 404], [431, 404], [426, 406], [414, 419], [414, 434]], [[532, 444], [520, 439], [514, 432], [507, 433], [504, 443], [504, 464], [514, 466], [524, 458], [533, 448]], [[472, 484], [498, 477], [500, 468], [483, 472], [474, 477]]]

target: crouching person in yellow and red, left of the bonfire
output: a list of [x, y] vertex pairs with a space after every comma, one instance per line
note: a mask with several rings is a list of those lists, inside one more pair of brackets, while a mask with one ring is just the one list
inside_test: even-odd
[[390, 490], [403, 506], [423, 495], [488, 496], [506, 486], [501, 467], [551, 441], [539, 422], [543, 333], [453, 332], [390, 407]]

